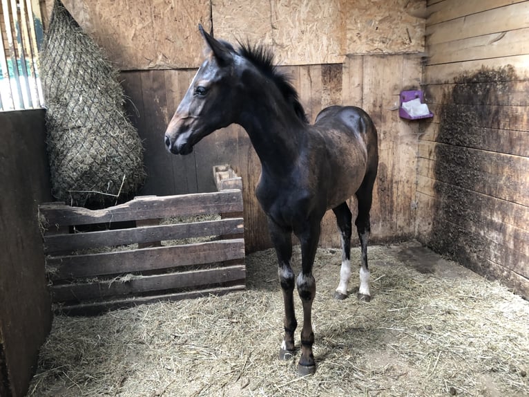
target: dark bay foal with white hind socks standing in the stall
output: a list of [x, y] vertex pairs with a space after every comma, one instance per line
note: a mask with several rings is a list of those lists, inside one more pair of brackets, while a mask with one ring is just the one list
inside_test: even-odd
[[[357, 107], [331, 106], [310, 125], [298, 94], [273, 66], [273, 55], [262, 46], [231, 44], [200, 33], [209, 55], [191, 82], [165, 133], [173, 154], [189, 154], [193, 145], [216, 129], [240, 124], [248, 133], [261, 162], [257, 199], [267, 214], [269, 232], [278, 256], [278, 274], [285, 302], [285, 336], [280, 358], [295, 350], [294, 284], [302, 301], [300, 375], [314, 373], [314, 333], [311, 307], [316, 295], [312, 266], [327, 210], [336, 214], [342, 241], [340, 283], [335, 297], [347, 297], [351, 277], [352, 213], [346, 200], [358, 199], [355, 225], [362, 259], [358, 298], [368, 301], [367, 241], [369, 210], [378, 167], [376, 128]], [[301, 272], [291, 268], [291, 233], [301, 246]]]

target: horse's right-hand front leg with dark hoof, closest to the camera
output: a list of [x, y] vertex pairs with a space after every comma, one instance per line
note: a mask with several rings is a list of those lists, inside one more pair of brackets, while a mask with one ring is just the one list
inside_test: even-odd
[[298, 364], [300, 376], [316, 372], [316, 362], [312, 353], [314, 332], [312, 331], [312, 302], [316, 296], [316, 280], [312, 275], [314, 257], [320, 239], [320, 220], [309, 225], [299, 236], [301, 243], [301, 273], [296, 284], [303, 306], [303, 328], [301, 330], [301, 357]]

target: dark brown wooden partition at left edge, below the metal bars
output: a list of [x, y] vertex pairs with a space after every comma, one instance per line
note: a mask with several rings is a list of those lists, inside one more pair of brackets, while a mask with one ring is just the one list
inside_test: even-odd
[[0, 396], [26, 396], [50, 331], [37, 205], [50, 201], [44, 110], [0, 112]]

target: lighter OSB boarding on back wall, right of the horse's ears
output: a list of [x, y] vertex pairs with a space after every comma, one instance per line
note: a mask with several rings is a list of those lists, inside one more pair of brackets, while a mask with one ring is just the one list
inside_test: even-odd
[[276, 50], [282, 65], [343, 62], [344, 55], [415, 53], [424, 48], [424, 1], [214, 1], [213, 29], [229, 41]]

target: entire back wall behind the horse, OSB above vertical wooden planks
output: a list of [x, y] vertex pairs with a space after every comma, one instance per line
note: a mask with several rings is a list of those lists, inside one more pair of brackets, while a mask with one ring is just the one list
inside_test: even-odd
[[[46, 0], [50, 9], [52, 1]], [[215, 37], [269, 46], [291, 76], [311, 120], [329, 104], [372, 114], [381, 166], [372, 212], [373, 241], [414, 235], [418, 124], [398, 118], [398, 93], [419, 88], [425, 0], [104, 0], [64, 4], [122, 71], [128, 111], [144, 140], [146, 185], [140, 194], [211, 192], [211, 167], [230, 164], [242, 176], [248, 252], [270, 246], [253, 189], [260, 163], [237, 126], [217, 131], [185, 157], [166, 152], [163, 133], [202, 59], [196, 24]], [[132, 22], [131, 22], [132, 21]], [[140, 50], [138, 50], [140, 49]], [[323, 246], [338, 247], [334, 219]]]

